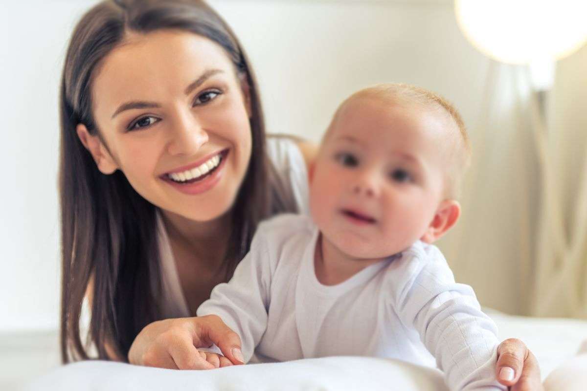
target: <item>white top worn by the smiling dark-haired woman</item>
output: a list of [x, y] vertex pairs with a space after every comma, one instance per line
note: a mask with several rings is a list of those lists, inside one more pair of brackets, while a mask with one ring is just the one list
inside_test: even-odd
[[[266, 140], [266, 151], [278, 174], [286, 183], [289, 183], [299, 212], [308, 214], [308, 170], [298, 146], [290, 138], [269, 136]], [[181, 283], [177, 275], [176, 262], [171, 251], [167, 230], [159, 213], [157, 213], [157, 231], [163, 288], [161, 303], [164, 318], [194, 316], [195, 314], [190, 314], [187, 301], [181, 290]]]

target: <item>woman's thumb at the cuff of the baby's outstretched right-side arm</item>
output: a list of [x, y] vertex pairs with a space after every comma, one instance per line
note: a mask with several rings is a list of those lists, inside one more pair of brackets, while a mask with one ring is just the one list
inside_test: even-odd
[[501, 342], [497, 348], [497, 380], [504, 386], [514, 385], [524, 368], [528, 348], [519, 339], [510, 338]]

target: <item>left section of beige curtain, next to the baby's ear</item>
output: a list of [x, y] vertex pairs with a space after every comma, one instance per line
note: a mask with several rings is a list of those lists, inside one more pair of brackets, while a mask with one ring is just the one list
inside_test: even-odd
[[467, 124], [473, 161], [463, 215], [439, 246], [481, 304], [528, 314], [539, 169], [526, 69], [487, 60], [485, 96]]

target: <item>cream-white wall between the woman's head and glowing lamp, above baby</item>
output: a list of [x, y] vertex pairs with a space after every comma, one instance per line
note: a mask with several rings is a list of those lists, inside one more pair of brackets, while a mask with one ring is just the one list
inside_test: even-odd
[[475, 117], [487, 60], [451, 1], [211, 3], [251, 56], [270, 131], [319, 140], [343, 98], [385, 81], [426, 86]]

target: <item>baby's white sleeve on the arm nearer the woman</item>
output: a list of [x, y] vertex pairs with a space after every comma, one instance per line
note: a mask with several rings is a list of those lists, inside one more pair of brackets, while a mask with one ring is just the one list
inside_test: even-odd
[[214, 287], [210, 299], [197, 310], [198, 317], [218, 315], [239, 335], [245, 362], [251, 359], [267, 327], [272, 267], [261, 231], [260, 226], [231, 280]]

